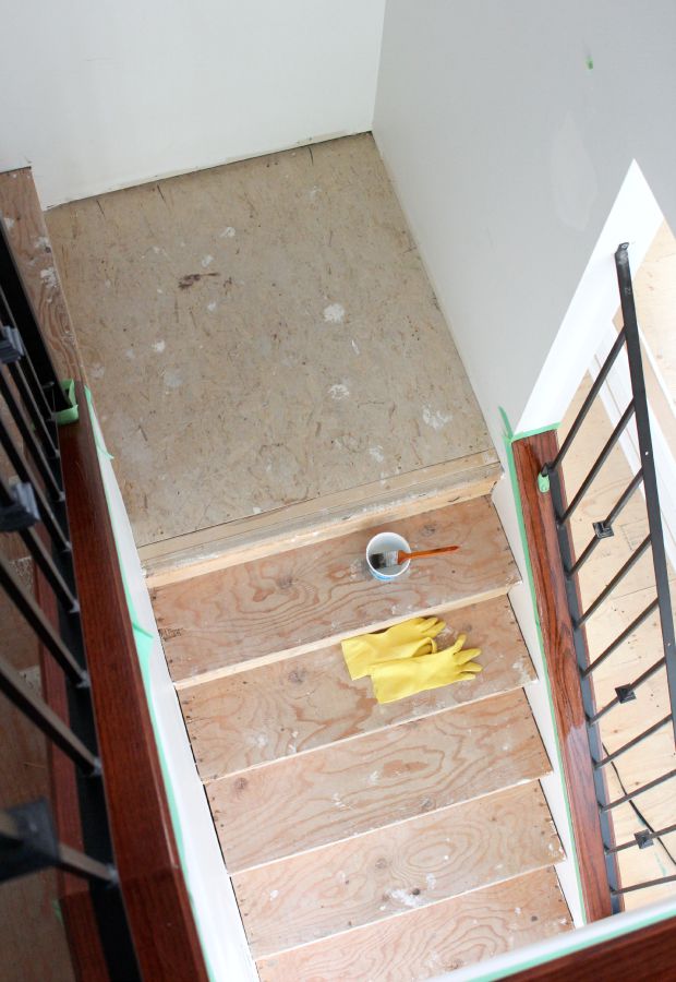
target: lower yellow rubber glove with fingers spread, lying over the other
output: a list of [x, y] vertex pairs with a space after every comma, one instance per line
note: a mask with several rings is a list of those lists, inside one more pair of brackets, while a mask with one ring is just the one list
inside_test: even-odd
[[481, 666], [471, 661], [481, 655], [481, 648], [462, 646], [467, 635], [461, 634], [451, 648], [432, 655], [418, 655], [405, 661], [383, 661], [371, 669], [373, 692], [378, 703], [394, 703], [417, 692], [466, 682], [481, 671]]

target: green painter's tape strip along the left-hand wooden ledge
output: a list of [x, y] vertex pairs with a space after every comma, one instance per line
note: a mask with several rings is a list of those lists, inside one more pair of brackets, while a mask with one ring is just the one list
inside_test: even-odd
[[[104, 436], [98, 423], [98, 419], [96, 418], [96, 412], [94, 411], [94, 406], [92, 405], [92, 393], [85, 386], [85, 393], [87, 397], [87, 406], [89, 409], [89, 418], [92, 419], [92, 427], [94, 429], [94, 439], [96, 443], [97, 451], [101, 454], [101, 456], [107, 459], [112, 459], [112, 455], [108, 453], [106, 450], [106, 444], [104, 442]], [[102, 477], [102, 475], [101, 475]], [[105, 486], [104, 486], [104, 490]], [[140, 623], [140, 619], [136, 614], [136, 610], [134, 607], [134, 601], [132, 599], [131, 590], [129, 588], [129, 584], [126, 582], [126, 574], [124, 571], [124, 565], [122, 563], [122, 559], [120, 555], [120, 548], [118, 546], [118, 531], [116, 529], [112, 508], [110, 507], [110, 501], [108, 501], [108, 491], [106, 491], [106, 501], [108, 503], [108, 514], [110, 516], [110, 524], [112, 525], [112, 535], [116, 540], [116, 548], [118, 550], [118, 564], [120, 567], [120, 573], [122, 576], [122, 585], [124, 587], [124, 597], [126, 599], [126, 607], [129, 610], [129, 616], [132, 622], [132, 630], [134, 633], [134, 642], [136, 644], [136, 654], [138, 656], [138, 664], [141, 667], [141, 675], [143, 678], [143, 685], [145, 688], [146, 699], [148, 703], [148, 711], [150, 714], [150, 722], [153, 724], [153, 732], [155, 733], [155, 745], [157, 747], [157, 756], [159, 757], [159, 766], [162, 771], [164, 782], [165, 782], [165, 791], [167, 793], [167, 802], [169, 804], [169, 813], [171, 815], [171, 825], [173, 827], [173, 835], [176, 838], [177, 849], [179, 851], [179, 857], [181, 861], [181, 865], [183, 867], [186, 866], [185, 860], [185, 840], [183, 837], [183, 828], [181, 826], [181, 817], [179, 814], [179, 809], [176, 802], [176, 795], [173, 790], [173, 783], [171, 780], [171, 771], [169, 770], [169, 766], [167, 764], [167, 756], [165, 753], [165, 747], [161, 739], [161, 730], [159, 723], [157, 722], [157, 715], [155, 712], [155, 705], [153, 703], [153, 691], [152, 691], [152, 682], [150, 682], [150, 651], [153, 649], [153, 643], [155, 640], [155, 634], [152, 631], [147, 631]], [[188, 886], [188, 881], [185, 883], [185, 887], [188, 889], [188, 894], [191, 899], [191, 907], [193, 909], [193, 913], [195, 914], [195, 924], [197, 926], [197, 933], [200, 933], [200, 919], [196, 915], [195, 905], [192, 900], [192, 895], [190, 891], [190, 887]], [[204, 960], [206, 962], [206, 969], [209, 979], [212, 982], [217, 982], [216, 974], [209, 965], [206, 950], [204, 946], [202, 947], [202, 953], [204, 956]]]

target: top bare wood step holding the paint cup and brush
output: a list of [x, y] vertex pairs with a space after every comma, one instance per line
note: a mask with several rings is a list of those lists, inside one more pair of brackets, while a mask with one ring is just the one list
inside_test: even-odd
[[174, 680], [202, 681], [265, 663], [407, 616], [505, 594], [516, 567], [491, 502], [478, 498], [391, 523], [411, 547], [458, 543], [382, 583], [365, 568], [383, 527], [243, 563], [154, 591]]

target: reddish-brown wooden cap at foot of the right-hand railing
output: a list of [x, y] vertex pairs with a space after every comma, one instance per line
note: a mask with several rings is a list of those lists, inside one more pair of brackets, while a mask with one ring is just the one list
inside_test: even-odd
[[554, 432], [512, 444], [584, 909], [595, 921], [611, 914], [611, 897], [554, 513], [538, 490], [538, 475], [557, 447]]

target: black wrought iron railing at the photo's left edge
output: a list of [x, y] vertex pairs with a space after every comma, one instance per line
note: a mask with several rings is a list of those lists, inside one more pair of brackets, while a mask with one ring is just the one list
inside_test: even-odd
[[[55, 866], [88, 882], [100, 945], [113, 979], [141, 978], [114, 866], [92, 690], [61, 472], [58, 414], [71, 407], [44, 344], [0, 225], [0, 588], [35, 642], [65, 680], [63, 716], [0, 651], [0, 691], [75, 768], [82, 849], [59, 841], [47, 799], [0, 810], [0, 881]], [[32, 560], [32, 592], [7, 556]], [[36, 599], [41, 592], [46, 602]], [[49, 611], [53, 612], [50, 615]]]

